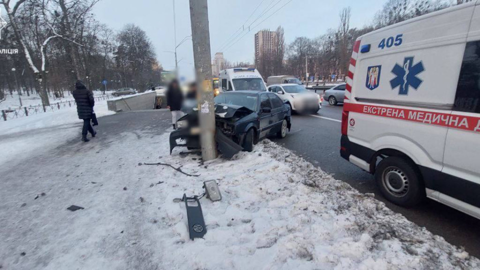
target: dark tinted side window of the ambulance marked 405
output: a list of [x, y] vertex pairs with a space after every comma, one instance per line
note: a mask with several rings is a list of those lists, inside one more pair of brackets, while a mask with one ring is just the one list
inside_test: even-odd
[[453, 110], [480, 113], [480, 41], [466, 43]]

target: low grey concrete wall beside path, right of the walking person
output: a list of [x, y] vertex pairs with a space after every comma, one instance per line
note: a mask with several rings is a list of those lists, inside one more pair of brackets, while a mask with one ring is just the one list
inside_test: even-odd
[[107, 100], [108, 110], [115, 112], [153, 109], [155, 104], [156, 93], [145, 92], [132, 95], [125, 95], [117, 98]]

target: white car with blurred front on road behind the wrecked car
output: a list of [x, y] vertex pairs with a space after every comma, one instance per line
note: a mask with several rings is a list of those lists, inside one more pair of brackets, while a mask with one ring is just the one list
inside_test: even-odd
[[273, 84], [268, 91], [276, 93], [292, 111], [316, 113], [321, 108], [321, 97], [296, 83]]

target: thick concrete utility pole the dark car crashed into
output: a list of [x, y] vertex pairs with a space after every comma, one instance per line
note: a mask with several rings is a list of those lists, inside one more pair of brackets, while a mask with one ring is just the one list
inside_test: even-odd
[[204, 161], [216, 158], [215, 109], [211, 83], [210, 30], [207, 0], [190, 0], [191, 39], [199, 93], [201, 157]]

